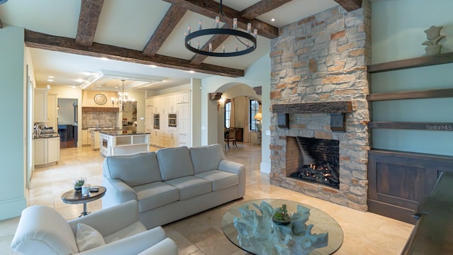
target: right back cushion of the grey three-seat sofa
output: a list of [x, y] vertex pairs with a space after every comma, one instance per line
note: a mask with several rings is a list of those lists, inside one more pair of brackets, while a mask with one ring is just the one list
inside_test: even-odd
[[198, 174], [218, 169], [219, 162], [224, 159], [224, 151], [219, 144], [191, 147], [190, 158], [193, 163], [193, 171]]

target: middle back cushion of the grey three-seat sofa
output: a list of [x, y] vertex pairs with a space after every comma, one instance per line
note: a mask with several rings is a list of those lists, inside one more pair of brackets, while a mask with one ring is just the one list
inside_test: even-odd
[[194, 174], [188, 147], [159, 149], [157, 159], [164, 181]]

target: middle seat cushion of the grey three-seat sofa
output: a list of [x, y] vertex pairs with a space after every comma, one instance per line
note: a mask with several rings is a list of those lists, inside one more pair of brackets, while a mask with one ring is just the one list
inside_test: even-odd
[[179, 189], [179, 200], [193, 198], [212, 191], [210, 181], [195, 176], [171, 179], [164, 181], [164, 183], [171, 184]]

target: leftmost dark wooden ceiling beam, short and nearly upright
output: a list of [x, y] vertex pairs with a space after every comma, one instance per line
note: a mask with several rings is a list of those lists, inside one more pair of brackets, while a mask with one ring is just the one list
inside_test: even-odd
[[104, 0], [81, 1], [79, 26], [76, 35], [76, 43], [78, 45], [89, 47], [93, 44], [103, 4]]

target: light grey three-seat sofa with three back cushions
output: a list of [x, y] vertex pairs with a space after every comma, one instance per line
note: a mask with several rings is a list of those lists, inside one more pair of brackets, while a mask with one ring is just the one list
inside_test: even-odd
[[137, 200], [151, 229], [242, 198], [243, 164], [224, 158], [221, 145], [159, 149], [104, 159], [103, 208]]

